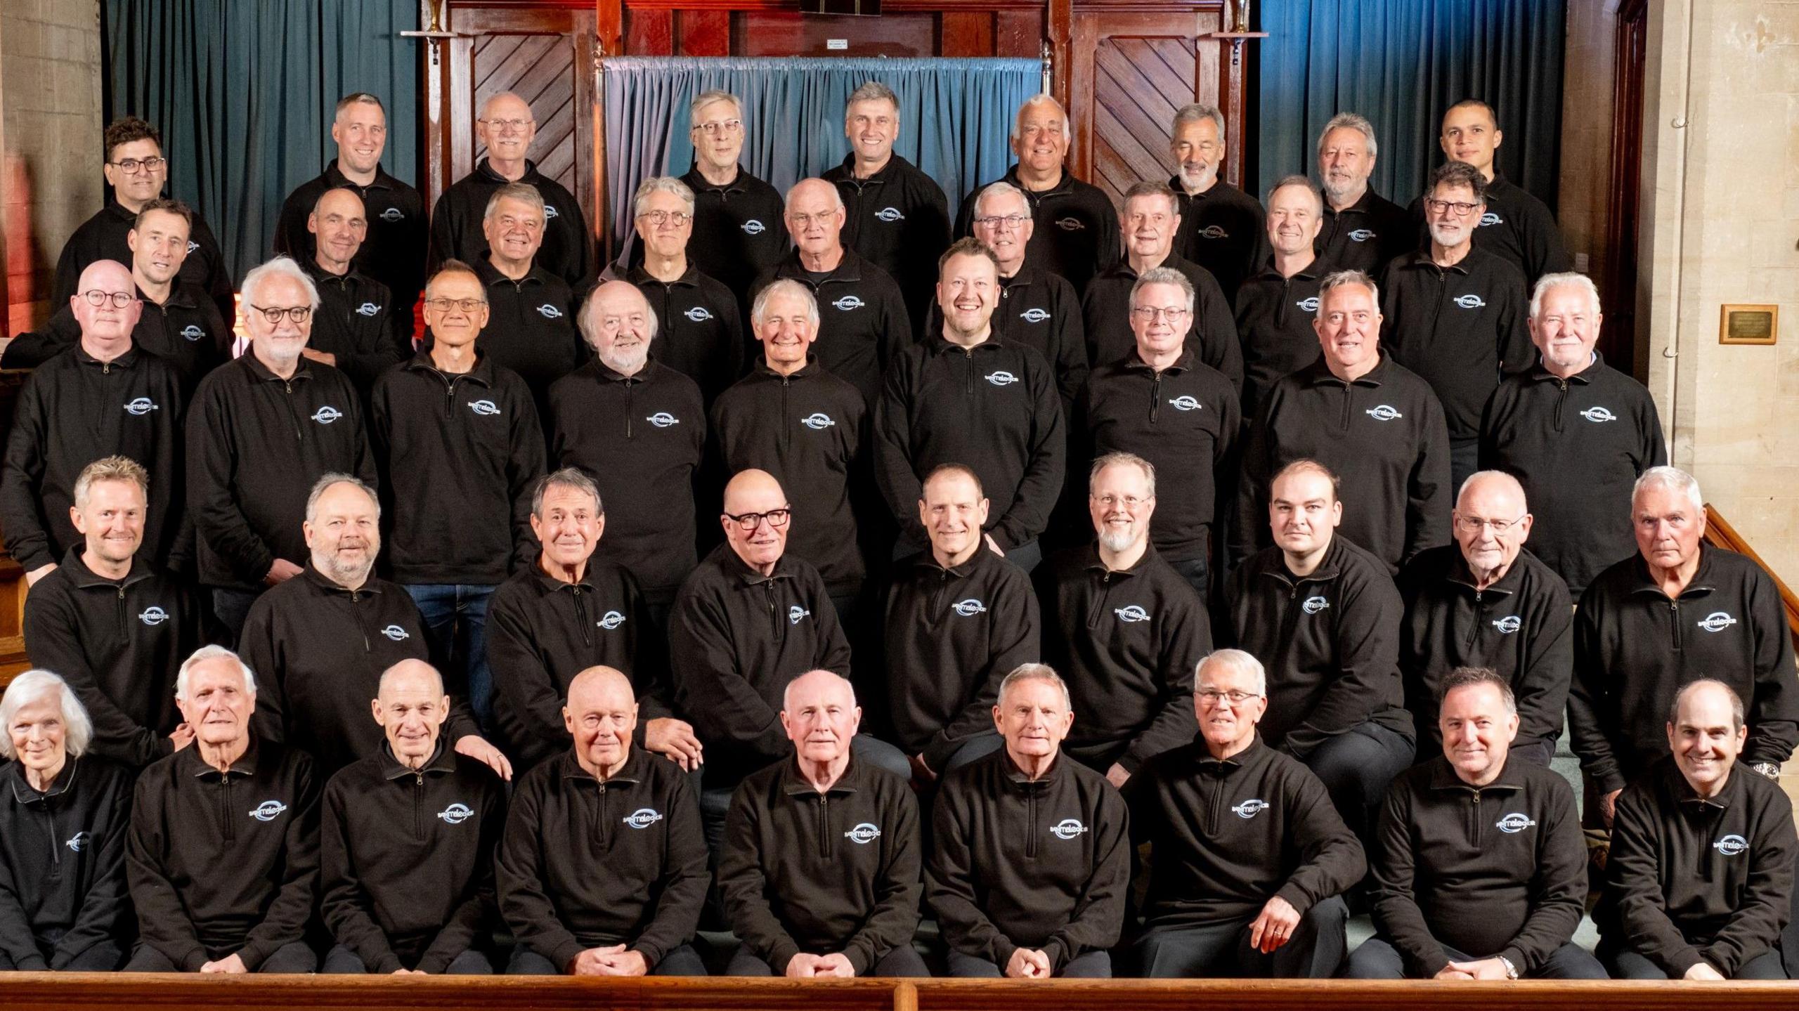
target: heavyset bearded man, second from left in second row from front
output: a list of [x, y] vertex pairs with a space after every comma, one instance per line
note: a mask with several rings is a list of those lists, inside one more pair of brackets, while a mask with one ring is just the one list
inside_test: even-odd
[[[255, 601], [239, 637], [245, 664], [263, 673], [257, 736], [317, 756], [324, 775], [380, 754], [369, 700], [381, 671], [428, 655], [412, 597], [372, 576], [380, 523], [372, 488], [347, 475], [318, 479], [306, 498], [311, 563]], [[511, 765], [480, 738], [466, 702], [457, 700], [444, 736], [459, 754], [511, 777]]]

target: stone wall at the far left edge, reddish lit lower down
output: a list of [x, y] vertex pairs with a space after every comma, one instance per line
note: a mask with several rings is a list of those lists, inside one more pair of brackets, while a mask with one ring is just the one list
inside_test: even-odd
[[0, 336], [49, 317], [63, 241], [104, 201], [101, 128], [99, 0], [0, 4]]

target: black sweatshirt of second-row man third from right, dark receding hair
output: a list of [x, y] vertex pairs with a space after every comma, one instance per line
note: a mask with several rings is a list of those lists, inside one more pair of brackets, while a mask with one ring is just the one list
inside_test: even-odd
[[1400, 685], [1403, 604], [1387, 567], [1333, 536], [1311, 576], [1293, 576], [1279, 547], [1252, 554], [1225, 583], [1234, 646], [1268, 671], [1258, 730], [1304, 759], [1365, 721], [1412, 736]]

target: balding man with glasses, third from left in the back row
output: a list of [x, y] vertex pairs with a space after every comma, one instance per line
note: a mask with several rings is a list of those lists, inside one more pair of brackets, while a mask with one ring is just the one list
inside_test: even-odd
[[581, 203], [559, 182], [538, 173], [538, 164], [527, 158], [536, 135], [536, 115], [513, 92], [500, 92], [482, 103], [475, 139], [488, 157], [437, 198], [426, 263], [430, 272], [446, 259], [486, 259], [493, 241], [482, 228], [488, 203], [497, 189], [524, 183], [543, 196], [543, 252], [536, 257], [538, 266], [568, 288], [579, 288], [594, 273], [594, 232], [586, 227]]

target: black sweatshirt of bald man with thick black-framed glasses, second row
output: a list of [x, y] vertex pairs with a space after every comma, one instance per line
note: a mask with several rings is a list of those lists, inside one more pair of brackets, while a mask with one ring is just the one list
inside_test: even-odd
[[669, 662], [709, 774], [741, 775], [792, 752], [781, 694], [806, 671], [847, 678], [849, 640], [817, 568], [783, 554], [763, 576], [721, 543], [675, 599]]

